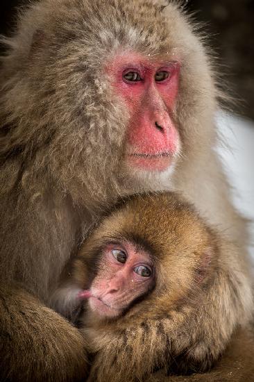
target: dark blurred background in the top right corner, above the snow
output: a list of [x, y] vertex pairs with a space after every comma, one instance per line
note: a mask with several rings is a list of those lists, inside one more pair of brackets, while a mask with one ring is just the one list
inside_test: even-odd
[[192, 0], [187, 8], [205, 22], [239, 113], [254, 119], [254, 1]]

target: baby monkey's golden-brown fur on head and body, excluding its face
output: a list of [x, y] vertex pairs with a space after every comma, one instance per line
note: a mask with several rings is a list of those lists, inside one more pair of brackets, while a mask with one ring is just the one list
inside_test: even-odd
[[225, 295], [232, 299], [237, 280], [224, 266], [226, 241], [176, 194], [140, 194], [103, 219], [75, 260], [68, 285], [89, 288], [90, 265], [112, 240], [151, 254], [155, 288], [117, 319], [101, 319], [87, 304], [91, 381], [145, 381], [157, 368], [209, 369], [230, 340]]

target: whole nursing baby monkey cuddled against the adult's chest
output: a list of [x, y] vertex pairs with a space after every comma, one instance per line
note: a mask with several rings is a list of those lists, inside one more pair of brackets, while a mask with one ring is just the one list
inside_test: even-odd
[[237, 280], [224, 265], [225, 246], [177, 194], [119, 203], [54, 294], [65, 316], [83, 306], [81, 331], [94, 357], [89, 381], [209, 369], [230, 340]]

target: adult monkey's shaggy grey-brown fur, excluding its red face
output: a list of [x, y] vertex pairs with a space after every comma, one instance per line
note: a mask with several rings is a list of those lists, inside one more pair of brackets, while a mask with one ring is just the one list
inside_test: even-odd
[[[53, 323], [56, 313], [50, 310], [51, 330], [46, 331], [49, 317], [40, 306], [49, 304], [65, 263], [105, 206], [135, 191], [183, 192], [227, 235], [225, 266], [231, 279], [239, 279], [237, 299], [230, 299], [230, 283], [220, 296], [231, 312], [231, 323], [224, 328], [230, 336], [252, 311], [246, 228], [230, 204], [214, 153], [218, 92], [210, 59], [183, 11], [175, 2], [164, 8], [152, 0], [41, 0], [22, 12], [17, 31], [3, 42], [7, 53], [0, 63], [2, 378], [66, 380], [73, 377], [71, 362], [77, 365], [76, 375], [82, 375], [84, 344], [79, 333], [60, 317]], [[134, 172], [123, 165], [128, 110], [104, 70], [123, 51], [180, 58], [180, 88], [172, 117], [182, 151], [173, 174]], [[30, 293], [38, 298], [37, 306]], [[12, 298], [15, 304], [6, 304]], [[59, 322], [62, 341], [56, 347]], [[17, 336], [17, 329], [24, 335]], [[28, 332], [33, 341], [25, 346]], [[67, 340], [71, 333], [76, 333], [76, 342]], [[47, 338], [44, 344], [42, 336]], [[11, 349], [17, 351], [12, 354]], [[59, 358], [65, 352], [69, 362]], [[30, 367], [31, 359], [43, 363], [42, 354], [44, 367]]]

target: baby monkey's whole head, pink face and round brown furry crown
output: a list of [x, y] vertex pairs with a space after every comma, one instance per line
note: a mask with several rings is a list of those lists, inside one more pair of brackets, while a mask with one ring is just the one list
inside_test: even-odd
[[214, 233], [177, 194], [133, 195], [83, 244], [75, 299], [93, 319], [168, 313], [208, 283], [216, 254]]

